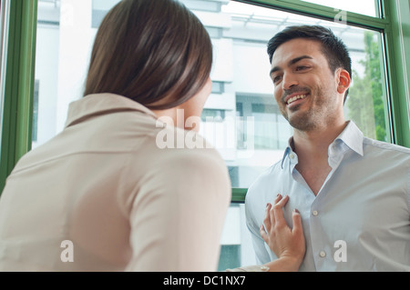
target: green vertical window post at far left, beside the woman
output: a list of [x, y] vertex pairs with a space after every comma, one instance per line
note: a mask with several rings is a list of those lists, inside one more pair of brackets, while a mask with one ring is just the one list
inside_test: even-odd
[[0, 191], [18, 159], [31, 148], [37, 0], [10, 1], [5, 67]]

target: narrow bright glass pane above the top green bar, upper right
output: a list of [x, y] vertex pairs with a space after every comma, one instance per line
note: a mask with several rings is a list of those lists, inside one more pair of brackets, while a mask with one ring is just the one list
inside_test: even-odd
[[[379, 17], [379, 0], [302, 0], [318, 5], [325, 5], [340, 11], [350, 11], [362, 15]], [[342, 16], [343, 14], [341, 14]]]

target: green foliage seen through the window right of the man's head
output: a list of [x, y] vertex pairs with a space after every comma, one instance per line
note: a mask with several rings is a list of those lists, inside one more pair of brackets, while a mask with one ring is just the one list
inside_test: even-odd
[[364, 65], [364, 75], [353, 72], [353, 85], [346, 103], [349, 118], [364, 135], [386, 141], [380, 49], [374, 33], [370, 31], [364, 33], [364, 50], [366, 56], [360, 61]]

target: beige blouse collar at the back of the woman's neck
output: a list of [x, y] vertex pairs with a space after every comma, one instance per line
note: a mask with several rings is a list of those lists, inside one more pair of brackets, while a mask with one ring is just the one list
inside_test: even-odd
[[80, 123], [95, 115], [104, 115], [120, 111], [138, 111], [154, 118], [157, 116], [144, 105], [125, 97], [115, 94], [94, 94], [70, 103], [66, 127]]

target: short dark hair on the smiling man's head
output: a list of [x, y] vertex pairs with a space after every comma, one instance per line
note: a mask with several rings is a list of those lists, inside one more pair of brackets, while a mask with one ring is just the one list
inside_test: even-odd
[[[332, 30], [319, 25], [288, 26], [274, 35], [268, 43], [268, 55], [271, 64], [276, 49], [285, 42], [295, 38], [319, 41], [322, 44], [322, 53], [326, 57], [331, 71], [334, 73], [337, 68], [342, 67], [352, 77], [352, 59], [349, 56], [346, 45], [333, 34]], [[344, 101], [347, 94], [348, 90], [344, 95]]]

